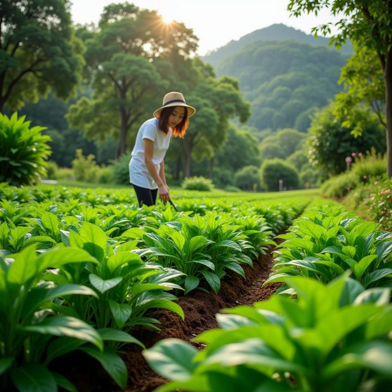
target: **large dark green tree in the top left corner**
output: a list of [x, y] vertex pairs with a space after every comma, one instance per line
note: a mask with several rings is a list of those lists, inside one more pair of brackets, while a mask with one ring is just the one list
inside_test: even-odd
[[0, 2], [0, 110], [59, 98], [80, 83], [83, 44], [75, 38], [68, 0]]

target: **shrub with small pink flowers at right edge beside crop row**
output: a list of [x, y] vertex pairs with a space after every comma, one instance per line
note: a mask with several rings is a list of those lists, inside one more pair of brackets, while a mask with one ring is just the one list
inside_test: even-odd
[[392, 180], [374, 181], [371, 193], [365, 198], [369, 217], [385, 229], [392, 227]]

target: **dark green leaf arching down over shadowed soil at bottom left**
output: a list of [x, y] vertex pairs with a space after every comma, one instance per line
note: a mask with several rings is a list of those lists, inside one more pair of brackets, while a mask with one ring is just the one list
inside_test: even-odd
[[127, 371], [123, 360], [111, 349], [105, 347], [103, 352], [93, 347], [81, 347], [80, 350], [99, 361], [114, 381], [122, 388], [126, 387]]

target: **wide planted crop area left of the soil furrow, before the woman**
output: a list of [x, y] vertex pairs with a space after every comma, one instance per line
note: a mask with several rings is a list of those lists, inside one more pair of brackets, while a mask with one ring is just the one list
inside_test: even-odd
[[[174, 301], [220, 290], [227, 273], [273, 244], [306, 202], [214, 198], [138, 208], [129, 191], [0, 186], [0, 389], [74, 386], [52, 364], [80, 350], [121, 388], [119, 351], [158, 329], [150, 309], [184, 317]], [[250, 201], [253, 199], [253, 201]]]

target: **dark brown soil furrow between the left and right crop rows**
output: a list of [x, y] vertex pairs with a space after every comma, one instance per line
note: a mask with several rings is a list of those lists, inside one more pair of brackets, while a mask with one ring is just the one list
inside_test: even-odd
[[[270, 274], [273, 250], [274, 248], [270, 248], [266, 255], [260, 255], [259, 260], [253, 262], [253, 268], [245, 265], [246, 279], [234, 272], [225, 276], [219, 294], [195, 291], [179, 298], [177, 302], [184, 311], [185, 320], [173, 312], [159, 309], [150, 312], [148, 316], [160, 320], [161, 332], [141, 328], [133, 331], [132, 335], [146, 344], [147, 348], [166, 338], [181, 339], [199, 347], [200, 344], [192, 342], [192, 339], [203, 331], [218, 328], [215, 315], [221, 309], [251, 305], [269, 298], [277, 290], [279, 283], [262, 287]], [[135, 344], [123, 348], [121, 356], [128, 369], [126, 392], [150, 392], [167, 381], [149, 368], [141, 351]], [[79, 354], [74, 354], [66, 361], [61, 368], [67, 371], [63, 370], [62, 373], [73, 382], [79, 392], [120, 391], [97, 361]], [[89, 371], [85, 372], [85, 369]]]

